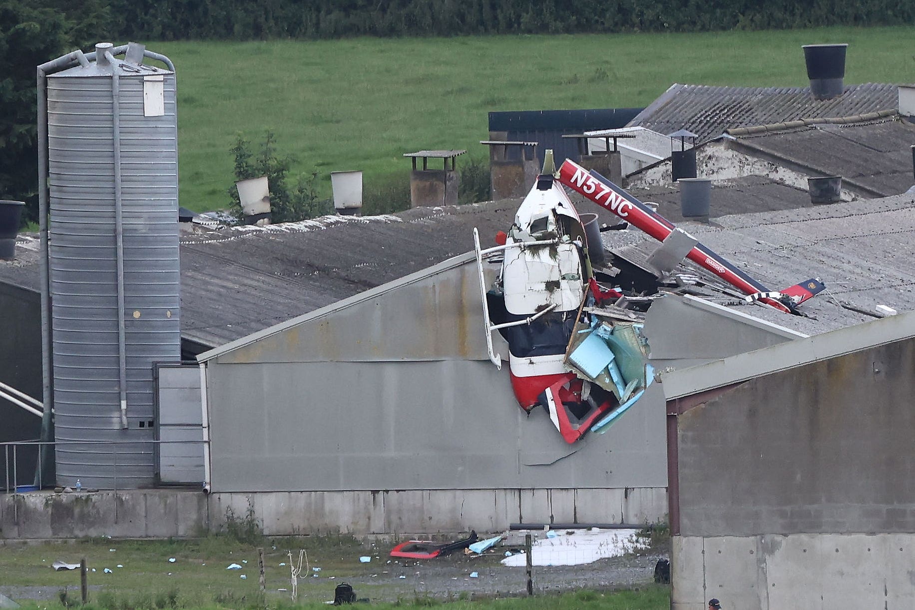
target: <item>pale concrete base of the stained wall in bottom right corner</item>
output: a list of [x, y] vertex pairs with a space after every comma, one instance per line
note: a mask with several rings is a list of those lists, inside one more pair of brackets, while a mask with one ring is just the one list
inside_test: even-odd
[[672, 610], [909, 610], [915, 534], [674, 536]]

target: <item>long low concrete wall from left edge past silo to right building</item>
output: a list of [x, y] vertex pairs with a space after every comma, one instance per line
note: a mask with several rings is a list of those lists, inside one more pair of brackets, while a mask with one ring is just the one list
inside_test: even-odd
[[663, 487], [263, 492], [183, 489], [0, 496], [0, 539], [187, 538], [249, 515], [269, 536], [501, 531], [511, 523], [654, 523]]

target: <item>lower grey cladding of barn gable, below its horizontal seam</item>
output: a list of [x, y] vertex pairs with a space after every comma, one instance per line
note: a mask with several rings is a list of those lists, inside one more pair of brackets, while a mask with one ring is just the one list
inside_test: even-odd
[[666, 485], [662, 408], [569, 445], [485, 362], [211, 365], [208, 386], [214, 492]]

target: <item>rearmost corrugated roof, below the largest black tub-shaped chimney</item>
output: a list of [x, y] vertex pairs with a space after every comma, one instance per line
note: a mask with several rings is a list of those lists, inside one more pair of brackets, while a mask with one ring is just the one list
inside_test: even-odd
[[802, 118], [852, 116], [895, 109], [897, 85], [850, 85], [832, 100], [813, 99], [809, 87], [715, 87], [673, 84], [633, 118], [640, 125], [670, 134], [688, 129], [703, 142], [733, 127], [767, 125]]

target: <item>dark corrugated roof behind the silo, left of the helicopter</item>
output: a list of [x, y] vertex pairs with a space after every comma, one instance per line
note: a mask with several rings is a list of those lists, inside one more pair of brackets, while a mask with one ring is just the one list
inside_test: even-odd
[[[181, 237], [181, 336], [215, 347], [484, 245], [512, 223], [519, 200], [325, 216]], [[616, 216], [600, 211], [605, 222]], [[21, 235], [0, 281], [39, 290], [38, 240]]]

